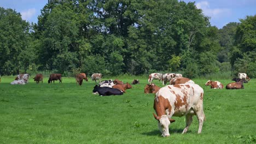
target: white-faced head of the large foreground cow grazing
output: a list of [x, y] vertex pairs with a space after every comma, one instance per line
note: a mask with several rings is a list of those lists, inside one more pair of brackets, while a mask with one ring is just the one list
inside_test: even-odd
[[162, 115], [162, 116], [156, 116], [155, 113], [153, 113], [154, 117], [156, 120], [158, 120], [158, 128], [162, 133], [162, 136], [170, 136], [169, 133], [169, 125], [173, 122], [175, 122], [174, 119], [168, 118], [167, 115]]

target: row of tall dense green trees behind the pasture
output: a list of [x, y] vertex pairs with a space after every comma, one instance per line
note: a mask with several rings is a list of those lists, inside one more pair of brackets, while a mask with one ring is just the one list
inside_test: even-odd
[[256, 15], [222, 29], [209, 20], [178, 0], [49, 0], [38, 23], [0, 8], [0, 74], [256, 76]]

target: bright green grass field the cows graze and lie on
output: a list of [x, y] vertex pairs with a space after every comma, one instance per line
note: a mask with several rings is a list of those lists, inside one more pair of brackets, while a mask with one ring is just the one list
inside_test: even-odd
[[[113, 77], [108, 77], [112, 78]], [[131, 83], [131, 79], [119, 80]], [[206, 121], [198, 135], [196, 116], [187, 134], [184, 117], [173, 117], [170, 137], [161, 137], [153, 116], [154, 94], [144, 94], [147, 78], [140, 77], [124, 95], [92, 94], [95, 83], [75, 85], [75, 79], [38, 85], [0, 83], [0, 143], [255, 143], [256, 80], [245, 89], [210, 89], [206, 79], [193, 79], [205, 91]], [[105, 78], [107, 79], [107, 78]], [[226, 84], [231, 80], [218, 80]], [[161, 86], [154, 80], [156, 85]]]

